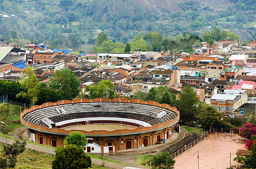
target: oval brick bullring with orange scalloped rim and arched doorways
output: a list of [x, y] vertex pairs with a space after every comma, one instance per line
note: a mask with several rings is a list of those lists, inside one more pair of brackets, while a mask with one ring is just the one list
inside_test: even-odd
[[169, 139], [180, 115], [155, 101], [97, 98], [35, 105], [20, 117], [35, 143], [60, 146], [65, 136], [80, 131], [88, 138], [86, 152], [114, 153]]

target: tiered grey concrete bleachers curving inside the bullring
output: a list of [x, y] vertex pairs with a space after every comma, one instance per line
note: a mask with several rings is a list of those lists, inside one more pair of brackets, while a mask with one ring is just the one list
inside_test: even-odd
[[[62, 107], [65, 113], [56, 110]], [[157, 115], [162, 111], [167, 112], [162, 118]], [[67, 119], [77, 119], [86, 117], [119, 117], [130, 118], [145, 121], [151, 125], [158, 123], [166, 123], [174, 119], [177, 113], [170, 109], [162, 108], [154, 105], [136, 104], [136, 103], [116, 103], [116, 102], [94, 102], [94, 103], [73, 103], [56, 106], [48, 106], [33, 110], [23, 115], [25, 121], [33, 124], [47, 126], [42, 122], [43, 118], [49, 118], [54, 123], [66, 121]]]

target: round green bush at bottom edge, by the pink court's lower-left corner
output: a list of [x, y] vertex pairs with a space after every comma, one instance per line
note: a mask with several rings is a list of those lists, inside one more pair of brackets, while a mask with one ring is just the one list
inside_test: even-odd
[[163, 152], [155, 155], [152, 159], [153, 168], [174, 168], [175, 160], [171, 157], [170, 153]]

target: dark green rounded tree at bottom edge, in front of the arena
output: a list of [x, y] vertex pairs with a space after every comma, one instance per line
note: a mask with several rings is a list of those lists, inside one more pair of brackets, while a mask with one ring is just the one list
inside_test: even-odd
[[57, 149], [52, 164], [53, 169], [89, 168], [92, 166], [92, 159], [90, 159], [89, 155], [85, 154], [83, 148], [78, 148], [75, 145], [67, 145]]

